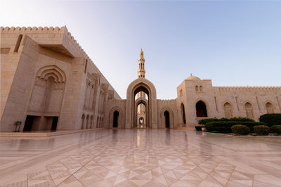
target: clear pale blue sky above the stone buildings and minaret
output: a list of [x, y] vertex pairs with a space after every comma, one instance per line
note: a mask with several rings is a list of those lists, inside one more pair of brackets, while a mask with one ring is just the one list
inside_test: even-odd
[[281, 1], [1, 1], [1, 26], [67, 29], [122, 98], [145, 77], [157, 98], [195, 75], [213, 86], [281, 86]]

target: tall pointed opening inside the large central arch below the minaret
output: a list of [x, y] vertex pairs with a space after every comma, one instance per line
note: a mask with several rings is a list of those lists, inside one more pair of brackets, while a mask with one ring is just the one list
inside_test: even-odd
[[[138, 86], [134, 93], [134, 124], [133, 127], [150, 127], [149, 125], [149, 91], [145, 88], [145, 86]], [[137, 102], [137, 103], [136, 103]], [[143, 124], [140, 126], [140, 118], [143, 117]]]

